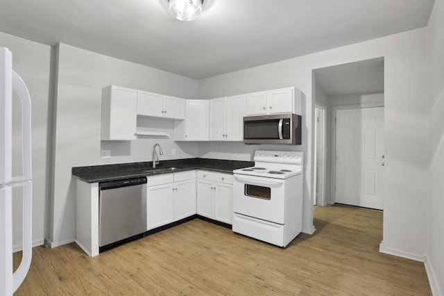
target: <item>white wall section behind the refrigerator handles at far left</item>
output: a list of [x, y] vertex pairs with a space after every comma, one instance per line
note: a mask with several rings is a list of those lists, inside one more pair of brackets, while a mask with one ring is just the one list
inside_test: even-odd
[[[33, 155], [33, 245], [42, 245], [48, 227], [49, 211], [49, 174], [48, 158], [46, 150], [49, 140], [49, 83], [50, 83], [50, 58], [51, 47], [17, 38], [0, 32], [0, 47], [8, 47], [12, 52], [12, 68], [26, 83], [31, 94], [32, 104], [32, 155]], [[22, 173], [21, 157], [22, 141], [21, 118], [22, 107], [14, 99], [14, 141], [12, 151], [12, 169], [15, 174]], [[17, 120], [19, 122], [17, 122]], [[13, 239], [15, 250], [22, 249], [22, 192], [14, 190], [13, 195]]]

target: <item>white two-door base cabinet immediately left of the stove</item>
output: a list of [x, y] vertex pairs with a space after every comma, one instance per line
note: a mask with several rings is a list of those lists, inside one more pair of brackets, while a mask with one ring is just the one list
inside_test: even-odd
[[198, 215], [232, 224], [232, 201], [232, 174], [198, 170]]

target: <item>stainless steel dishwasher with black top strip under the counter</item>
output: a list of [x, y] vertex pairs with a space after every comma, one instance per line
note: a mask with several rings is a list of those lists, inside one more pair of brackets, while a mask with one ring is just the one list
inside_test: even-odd
[[99, 251], [144, 236], [146, 177], [99, 183]]

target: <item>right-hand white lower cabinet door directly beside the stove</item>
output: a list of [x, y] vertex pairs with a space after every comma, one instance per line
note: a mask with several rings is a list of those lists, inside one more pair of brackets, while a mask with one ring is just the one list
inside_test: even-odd
[[214, 220], [232, 224], [233, 186], [214, 183]]

